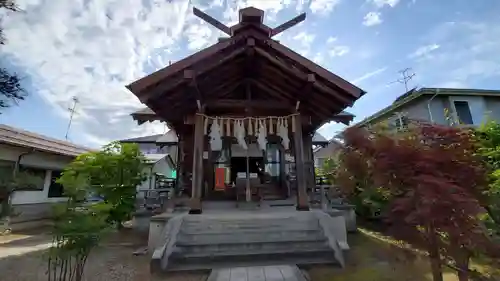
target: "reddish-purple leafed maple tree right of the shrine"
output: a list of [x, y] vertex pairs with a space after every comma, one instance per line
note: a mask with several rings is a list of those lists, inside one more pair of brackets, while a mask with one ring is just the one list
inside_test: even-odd
[[362, 180], [366, 189], [382, 186], [390, 193], [384, 214], [390, 233], [427, 250], [435, 281], [443, 280], [442, 256], [467, 280], [475, 251], [498, 250], [479, 220], [485, 170], [469, 132], [428, 124], [392, 135], [350, 128], [344, 145], [343, 161], [362, 165], [346, 172], [344, 183], [351, 184], [345, 187], [358, 188]]

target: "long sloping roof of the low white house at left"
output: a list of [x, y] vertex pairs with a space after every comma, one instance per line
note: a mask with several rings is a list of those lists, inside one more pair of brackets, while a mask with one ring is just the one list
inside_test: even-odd
[[64, 156], [78, 156], [92, 149], [0, 124], [0, 143]]

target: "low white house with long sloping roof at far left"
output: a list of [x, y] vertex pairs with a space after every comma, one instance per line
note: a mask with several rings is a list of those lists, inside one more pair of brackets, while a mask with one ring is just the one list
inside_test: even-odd
[[90, 149], [0, 124], [0, 169], [2, 174], [25, 171], [39, 178], [20, 187], [12, 196], [12, 222], [33, 222], [50, 216], [52, 203], [64, 201], [63, 188], [55, 182], [73, 159]]

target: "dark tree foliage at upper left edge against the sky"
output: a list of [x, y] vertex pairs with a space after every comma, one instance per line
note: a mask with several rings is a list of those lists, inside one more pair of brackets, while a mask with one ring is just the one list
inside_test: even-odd
[[[12, 0], [0, 0], [0, 8], [10, 11], [19, 11], [15, 2]], [[0, 45], [5, 44], [5, 37], [2, 28], [0, 28]], [[0, 67], [0, 110], [24, 100], [26, 92], [21, 87], [19, 77], [14, 73], [10, 74], [6, 68]]]

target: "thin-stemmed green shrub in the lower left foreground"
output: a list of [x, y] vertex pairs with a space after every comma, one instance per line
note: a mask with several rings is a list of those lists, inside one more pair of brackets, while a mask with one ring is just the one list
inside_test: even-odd
[[86, 204], [89, 178], [80, 174], [62, 177], [68, 201], [54, 208], [53, 246], [47, 256], [48, 281], [81, 281], [90, 252], [107, 233], [111, 206], [101, 202]]

